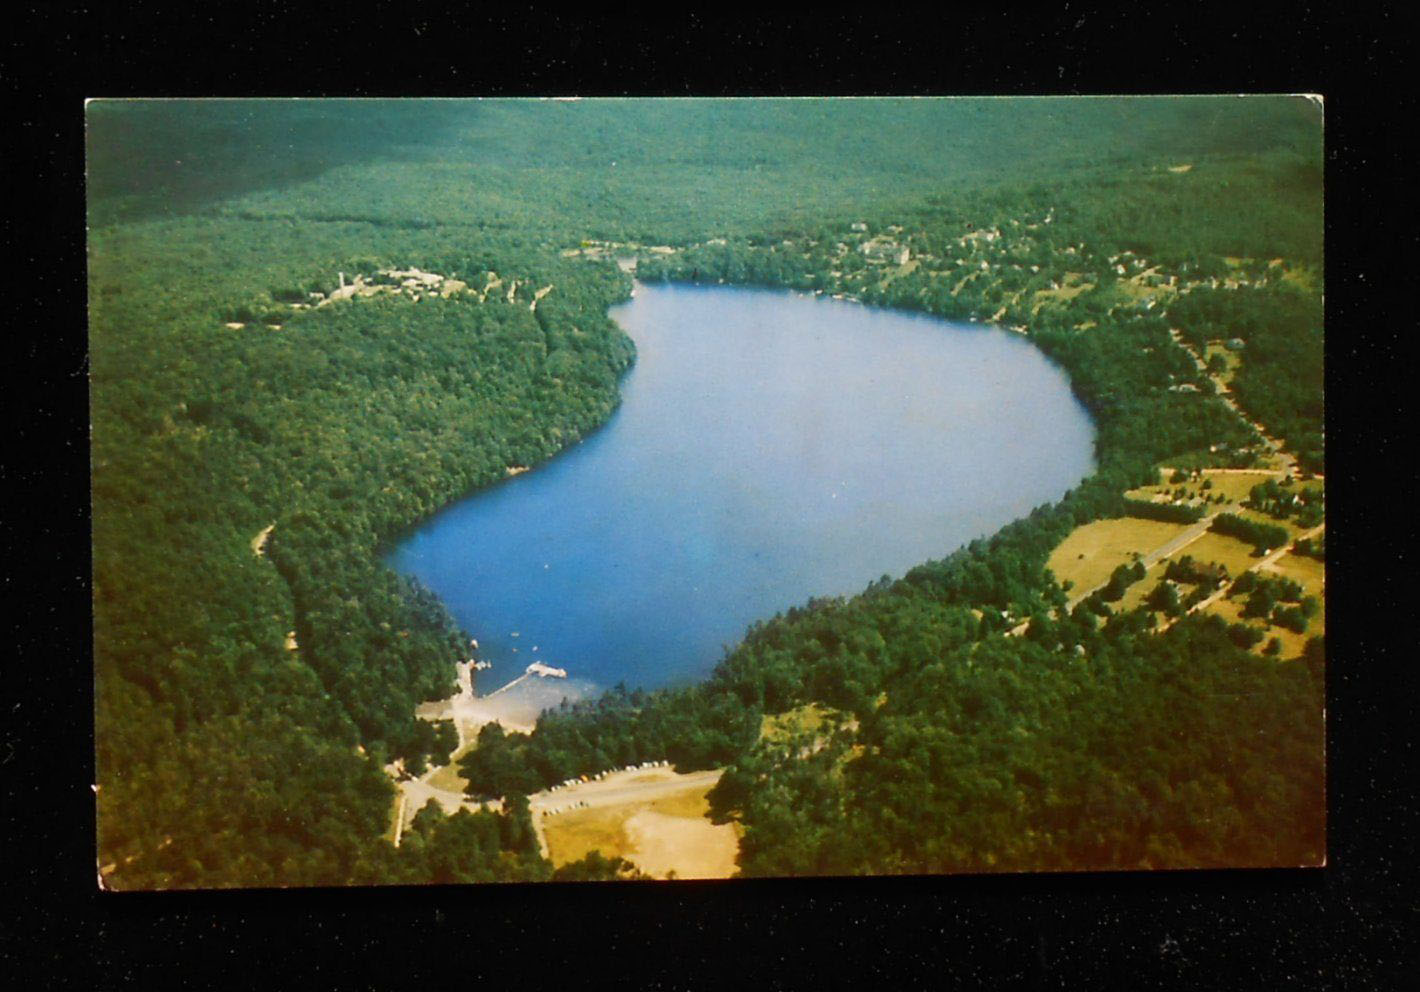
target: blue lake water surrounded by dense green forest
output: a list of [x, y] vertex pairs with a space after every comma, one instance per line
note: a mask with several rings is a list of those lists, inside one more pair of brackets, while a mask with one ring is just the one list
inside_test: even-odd
[[1007, 331], [726, 287], [638, 285], [612, 316], [638, 358], [606, 426], [389, 555], [479, 639], [480, 693], [531, 661], [574, 694], [701, 680], [754, 620], [944, 556], [1093, 470], [1065, 375]]

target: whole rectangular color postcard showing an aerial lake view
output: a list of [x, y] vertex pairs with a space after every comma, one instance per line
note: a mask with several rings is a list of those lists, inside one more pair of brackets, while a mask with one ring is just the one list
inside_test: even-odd
[[89, 101], [98, 886], [1325, 864], [1322, 119]]

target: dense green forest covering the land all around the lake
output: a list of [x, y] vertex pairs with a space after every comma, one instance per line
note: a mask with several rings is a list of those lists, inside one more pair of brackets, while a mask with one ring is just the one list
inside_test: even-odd
[[[521, 796], [659, 758], [727, 768], [711, 808], [744, 827], [743, 874], [1319, 859], [1321, 640], [1279, 666], [1216, 619], [1062, 616], [1045, 569], [1075, 525], [1140, 512], [1122, 494], [1162, 461], [1257, 457], [1170, 331], [1241, 339], [1238, 402], [1322, 471], [1302, 101], [99, 101], [89, 170], [106, 886], [545, 880]], [[1098, 473], [765, 617], [703, 684], [486, 729], [462, 768], [503, 812], [430, 808], [395, 849], [383, 766], [447, 759], [413, 708], [452, 690], [467, 632], [379, 552], [615, 410], [635, 355], [606, 308], [630, 278], [601, 244], [640, 280], [1021, 329], [1095, 417]], [[329, 302], [409, 267], [466, 288]], [[831, 734], [760, 739], [807, 704]]]

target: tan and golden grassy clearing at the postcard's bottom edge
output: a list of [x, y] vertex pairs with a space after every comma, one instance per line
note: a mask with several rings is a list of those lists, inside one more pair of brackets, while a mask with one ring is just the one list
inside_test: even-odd
[[[667, 781], [640, 775], [632, 782]], [[689, 776], [687, 776], [689, 778]], [[714, 776], [717, 781], [719, 776]], [[542, 833], [552, 864], [577, 861], [594, 850], [623, 857], [646, 874], [665, 878], [728, 878], [736, 870], [740, 837], [734, 825], [716, 826], [706, 815], [706, 793], [714, 781], [694, 776], [682, 789], [663, 790], [650, 799], [632, 799], [572, 809], [544, 817]], [[571, 798], [574, 790], [568, 790]]]

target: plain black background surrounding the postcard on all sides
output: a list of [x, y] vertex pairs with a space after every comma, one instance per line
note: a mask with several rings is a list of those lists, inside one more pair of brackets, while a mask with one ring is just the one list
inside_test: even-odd
[[[0, 694], [11, 988], [1397, 988], [1416, 954], [1416, 131], [1399, 6], [45, 4], [13, 18]], [[240, 23], [239, 23], [240, 20]], [[1321, 92], [1329, 864], [1305, 871], [102, 894], [95, 886], [82, 99]], [[0, 979], [3, 981], [3, 979]]]

